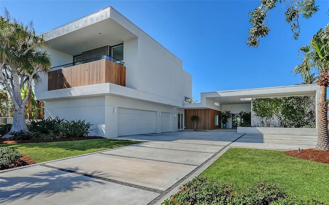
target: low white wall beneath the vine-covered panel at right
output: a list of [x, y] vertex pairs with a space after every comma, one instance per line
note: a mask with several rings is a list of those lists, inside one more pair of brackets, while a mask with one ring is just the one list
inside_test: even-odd
[[237, 133], [243, 134], [273, 134], [273, 135], [299, 135], [318, 136], [317, 128], [255, 128], [237, 127]]

